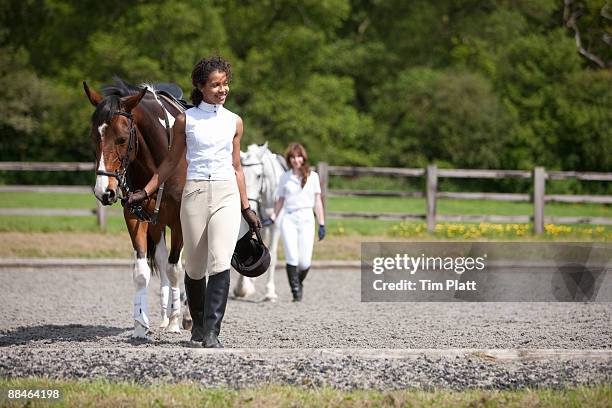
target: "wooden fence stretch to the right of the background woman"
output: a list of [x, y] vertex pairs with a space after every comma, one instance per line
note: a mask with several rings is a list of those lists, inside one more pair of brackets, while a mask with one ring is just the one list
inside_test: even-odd
[[[500, 222], [529, 223], [533, 222], [534, 233], [544, 232], [544, 224], [596, 224], [612, 225], [608, 217], [546, 217], [544, 204], [560, 203], [597, 203], [612, 204], [610, 195], [576, 195], [576, 194], [546, 194], [546, 180], [589, 180], [612, 181], [612, 173], [546, 171], [544, 167], [536, 167], [533, 171], [525, 170], [480, 170], [480, 169], [439, 169], [435, 165], [427, 168], [390, 168], [390, 167], [347, 167], [329, 166], [319, 163], [317, 167], [321, 179], [323, 197], [354, 196], [354, 197], [417, 197], [425, 198], [426, 208], [423, 214], [398, 214], [381, 212], [332, 212], [326, 211], [329, 218], [368, 218], [379, 220], [424, 221], [427, 229], [433, 232], [437, 222]], [[330, 176], [394, 176], [394, 177], [425, 177], [425, 191], [347, 191], [330, 190]], [[440, 178], [463, 179], [531, 179], [533, 194], [528, 193], [467, 193], [438, 191]], [[438, 199], [459, 200], [492, 200], [531, 202], [533, 216], [529, 215], [442, 215], [437, 214]], [[325, 208], [327, 208], [324, 205]]]

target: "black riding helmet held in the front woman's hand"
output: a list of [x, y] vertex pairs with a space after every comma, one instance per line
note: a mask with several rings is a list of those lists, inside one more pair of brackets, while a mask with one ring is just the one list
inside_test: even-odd
[[250, 231], [244, 234], [236, 242], [232, 255], [232, 267], [249, 278], [263, 275], [270, 266], [270, 251], [264, 245], [259, 231], [256, 231], [255, 235], [257, 239], [253, 238], [253, 233]]

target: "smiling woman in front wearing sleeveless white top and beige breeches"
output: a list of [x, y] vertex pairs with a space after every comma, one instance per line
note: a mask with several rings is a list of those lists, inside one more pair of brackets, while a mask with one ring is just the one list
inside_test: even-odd
[[193, 318], [191, 341], [209, 348], [223, 347], [218, 336], [241, 209], [252, 230], [261, 227], [249, 206], [240, 166], [242, 119], [223, 106], [231, 76], [230, 65], [220, 57], [202, 59], [194, 66], [194, 107], [176, 117], [170, 153], [145, 188], [128, 200], [150, 197], [186, 155], [187, 181], [181, 200], [185, 291]]

